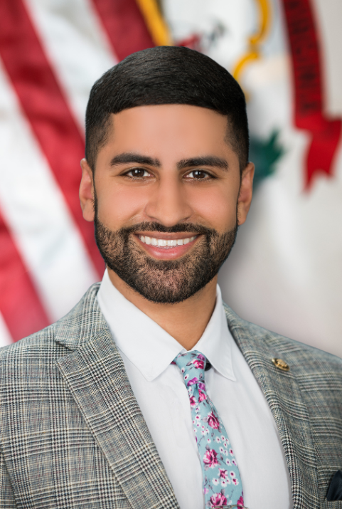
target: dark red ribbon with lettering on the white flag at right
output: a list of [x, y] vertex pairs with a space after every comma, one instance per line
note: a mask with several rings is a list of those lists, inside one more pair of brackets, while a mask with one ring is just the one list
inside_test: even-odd
[[305, 176], [309, 188], [316, 174], [332, 174], [341, 120], [330, 120], [323, 113], [320, 48], [310, 0], [283, 1], [294, 70], [294, 122], [312, 135]]

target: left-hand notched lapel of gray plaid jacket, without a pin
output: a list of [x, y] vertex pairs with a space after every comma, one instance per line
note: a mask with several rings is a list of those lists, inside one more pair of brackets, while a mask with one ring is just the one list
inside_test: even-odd
[[68, 326], [61, 320], [56, 341], [74, 351], [60, 357], [58, 369], [132, 509], [179, 509], [97, 305], [97, 287], [90, 290]]

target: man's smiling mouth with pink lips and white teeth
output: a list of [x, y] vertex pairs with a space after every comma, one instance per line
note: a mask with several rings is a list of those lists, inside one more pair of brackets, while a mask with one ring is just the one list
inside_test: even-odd
[[[187, 236], [186, 236], [187, 235]], [[201, 235], [189, 236], [188, 233], [135, 234], [139, 243], [154, 258], [174, 260], [191, 250]]]

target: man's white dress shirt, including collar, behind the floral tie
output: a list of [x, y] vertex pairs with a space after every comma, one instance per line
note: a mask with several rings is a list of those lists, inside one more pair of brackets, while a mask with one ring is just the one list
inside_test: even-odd
[[[183, 347], [112, 285], [107, 271], [97, 300], [126, 367], [181, 509], [203, 509], [202, 471], [183, 376], [171, 361]], [[220, 288], [193, 350], [207, 357], [205, 386], [223, 421], [249, 509], [292, 509], [277, 426], [250, 367], [228, 329]]]

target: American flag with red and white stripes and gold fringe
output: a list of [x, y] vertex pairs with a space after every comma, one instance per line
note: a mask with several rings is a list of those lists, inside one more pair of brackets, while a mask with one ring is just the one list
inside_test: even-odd
[[102, 277], [78, 199], [92, 84], [168, 43], [156, 2], [0, 2], [0, 346], [54, 322]]

